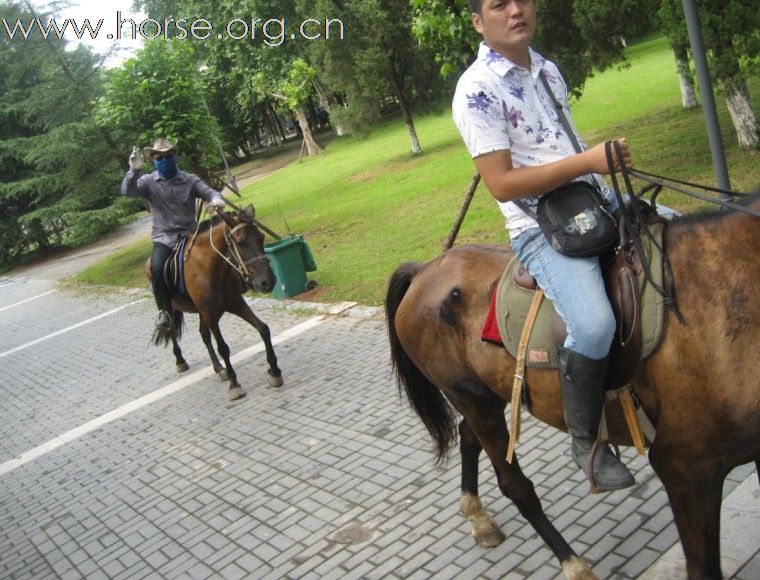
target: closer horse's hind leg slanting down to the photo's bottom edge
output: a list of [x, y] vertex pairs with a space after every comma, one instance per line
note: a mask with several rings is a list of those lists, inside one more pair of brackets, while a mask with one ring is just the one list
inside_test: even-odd
[[533, 483], [520, 469], [517, 458], [507, 463], [509, 431], [504, 418], [506, 403], [480, 381], [461, 382], [447, 395], [488, 454], [501, 493], [514, 502], [520, 514], [546, 542], [559, 560], [565, 576], [571, 580], [596, 578], [588, 564], [573, 552], [544, 514]]

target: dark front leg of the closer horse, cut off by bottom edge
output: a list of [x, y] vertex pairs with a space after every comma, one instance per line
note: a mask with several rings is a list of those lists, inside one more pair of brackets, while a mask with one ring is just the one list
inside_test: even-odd
[[[658, 433], [658, 437], [659, 437]], [[649, 461], [665, 486], [691, 578], [722, 578], [720, 504], [726, 473], [715, 462], [675, 459], [655, 442]]]

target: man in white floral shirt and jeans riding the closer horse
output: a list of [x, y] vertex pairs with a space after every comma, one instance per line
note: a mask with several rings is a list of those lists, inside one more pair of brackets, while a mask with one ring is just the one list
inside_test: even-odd
[[[563, 127], [553, 100], [567, 111], [567, 86], [554, 63], [530, 47], [536, 29], [533, 0], [470, 0], [470, 8], [483, 42], [457, 84], [454, 120], [507, 217], [515, 254], [566, 323], [560, 384], [573, 459], [596, 488], [629, 487], [634, 478], [609, 447], [594, 450], [615, 332], [599, 259], [560, 254], [515, 203], [525, 202], [535, 211], [541, 195], [582, 179], [601, 188], [614, 207], [614, 197], [598, 175], [609, 172], [604, 144], [576, 153], [574, 142], [580, 138]], [[620, 144], [622, 159], [615, 159], [615, 165], [630, 167], [625, 139]]]

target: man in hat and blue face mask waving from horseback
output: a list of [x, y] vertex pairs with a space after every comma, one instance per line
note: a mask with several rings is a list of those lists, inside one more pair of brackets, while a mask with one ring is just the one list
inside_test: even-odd
[[153, 147], [144, 148], [155, 171], [141, 175], [144, 164], [137, 147], [129, 156], [129, 170], [121, 182], [122, 195], [144, 197], [148, 201], [153, 250], [150, 255], [150, 279], [158, 306], [156, 328], [171, 329], [171, 291], [164, 281], [163, 268], [177, 241], [197, 227], [195, 200], [202, 199], [214, 210], [225, 206], [222, 194], [207, 185], [200, 177], [180, 171], [177, 151], [167, 139], [157, 139]]

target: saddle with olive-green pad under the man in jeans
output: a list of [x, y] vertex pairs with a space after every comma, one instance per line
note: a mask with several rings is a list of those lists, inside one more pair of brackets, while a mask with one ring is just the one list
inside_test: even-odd
[[[610, 365], [607, 389], [619, 388], [633, 378], [639, 361], [646, 359], [659, 346], [665, 319], [665, 300], [654, 284], [662, 287], [662, 255], [654, 247], [662, 247], [665, 220], [654, 211], [646, 215], [652, 239], [642, 239], [642, 249], [650, 265], [651, 281], [644, 275], [642, 262], [629, 239], [626, 228], [620, 222], [620, 250], [603, 265], [605, 285], [615, 312], [615, 338], [610, 348]], [[654, 242], [653, 242], [654, 240]], [[484, 327], [482, 339], [503, 344], [517, 358], [520, 336], [528, 317], [528, 310], [538, 289], [535, 279], [527, 269], [513, 258], [496, 288], [492, 305], [494, 312]], [[490, 331], [489, 331], [490, 328]], [[548, 300], [538, 308], [535, 323], [525, 353], [528, 368], [558, 368], [557, 348], [567, 337], [564, 321]]]

